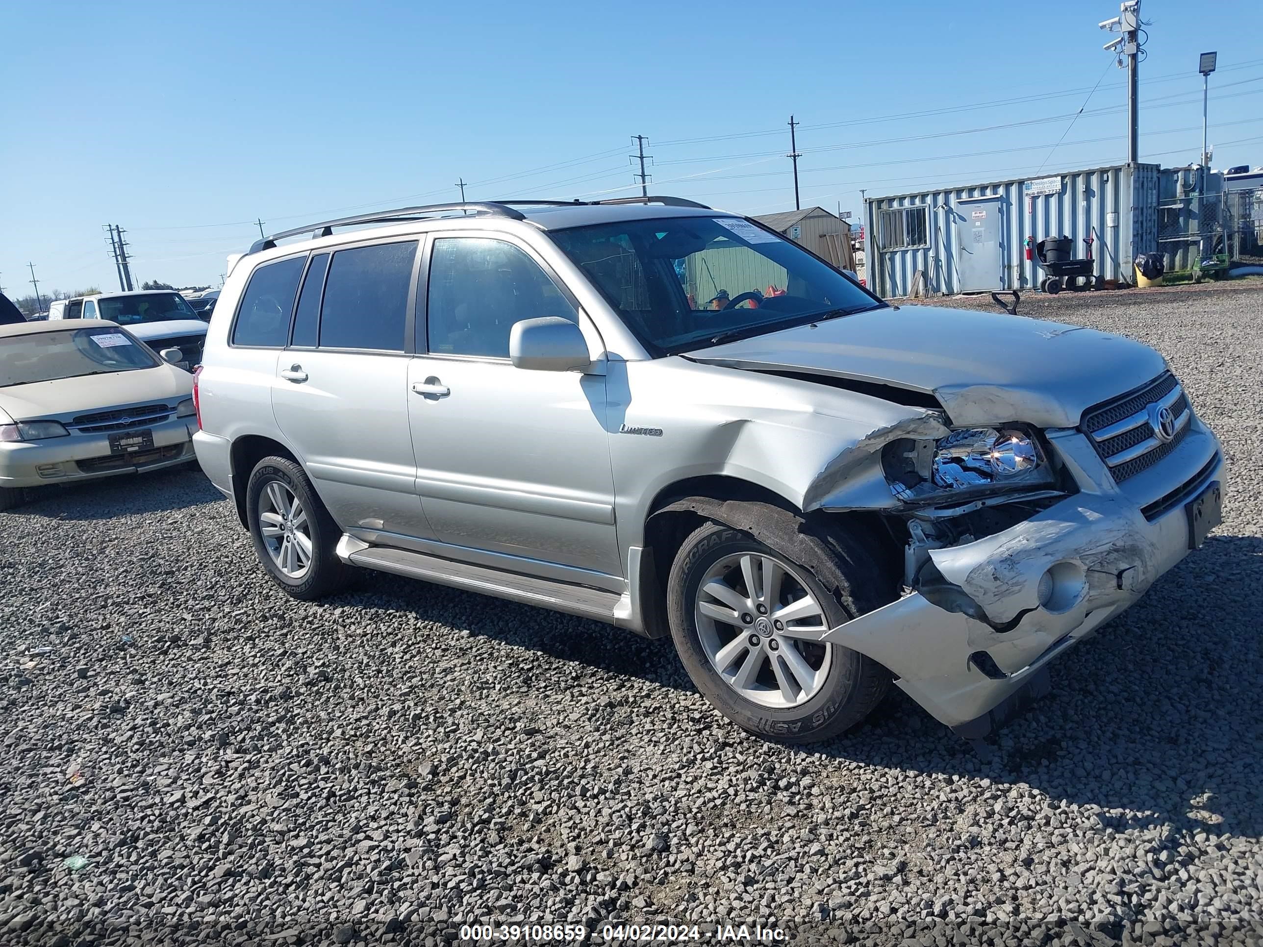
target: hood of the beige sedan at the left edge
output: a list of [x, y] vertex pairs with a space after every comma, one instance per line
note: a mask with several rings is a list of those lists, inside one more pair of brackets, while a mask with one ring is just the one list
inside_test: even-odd
[[173, 365], [159, 365], [0, 388], [0, 412], [13, 420], [35, 420], [130, 404], [176, 404], [192, 394], [192, 375]]

